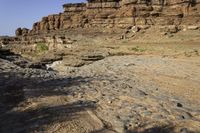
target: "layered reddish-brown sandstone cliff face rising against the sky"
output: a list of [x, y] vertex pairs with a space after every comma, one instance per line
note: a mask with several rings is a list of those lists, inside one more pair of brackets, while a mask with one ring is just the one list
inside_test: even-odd
[[65, 4], [64, 12], [43, 17], [32, 30], [17, 29], [16, 35], [33, 35], [69, 28], [125, 28], [134, 25], [199, 25], [200, 0], [88, 0]]

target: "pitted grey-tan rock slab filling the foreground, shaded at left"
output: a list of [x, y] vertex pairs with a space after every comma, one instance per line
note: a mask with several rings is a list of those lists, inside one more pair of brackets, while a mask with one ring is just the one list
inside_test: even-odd
[[54, 71], [0, 60], [1, 132], [199, 132], [199, 57], [106, 57]]

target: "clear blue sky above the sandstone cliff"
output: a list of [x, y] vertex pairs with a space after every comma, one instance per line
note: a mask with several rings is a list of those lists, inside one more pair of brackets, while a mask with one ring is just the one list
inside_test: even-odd
[[0, 36], [14, 35], [18, 27], [31, 28], [43, 16], [63, 12], [65, 3], [85, 0], [0, 0]]

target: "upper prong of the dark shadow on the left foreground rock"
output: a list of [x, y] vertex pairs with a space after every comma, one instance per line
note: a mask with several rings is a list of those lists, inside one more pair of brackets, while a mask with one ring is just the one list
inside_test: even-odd
[[20, 73], [0, 73], [0, 112], [5, 113], [26, 98], [73, 95], [77, 86], [89, 78], [24, 78]]

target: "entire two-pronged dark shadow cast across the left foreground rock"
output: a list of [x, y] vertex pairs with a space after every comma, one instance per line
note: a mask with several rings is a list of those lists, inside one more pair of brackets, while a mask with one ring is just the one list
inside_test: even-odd
[[83, 77], [24, 78], [21, 73], [0, 72], [0, 132], [42, 131], [45, 125], [70, 121], [79, 117], [76, 115], [78, 112], [95, 109], [93, 101], [77, 101], [16, 111], [28, 98], [74, 95], [78, 90], [73, 86], [89, 81]]

